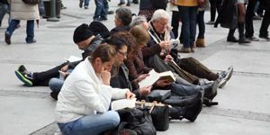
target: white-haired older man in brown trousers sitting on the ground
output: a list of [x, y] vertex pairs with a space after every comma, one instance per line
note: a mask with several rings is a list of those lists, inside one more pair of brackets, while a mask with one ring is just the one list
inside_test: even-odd
[[[181, 73], [178, 74], [187, 82], [193, 85], [203, 85], [208, 83], [206, 79], [210, 81], [220, 80], [220, 88], [223, 87], [232, 75], [233, 67], [229, 67], [227, 71], [221, 71], [218, 75], [211, 72], [210, 69], [202, 65], [202, 63], [195, 58], [178, 58], [177, 52], [173, 53], [174, 51], [172, 50], [170, 53], [166, 54], [166, 51], [164, 50], [170, 48], [169, 40], [174, 39], [173, 32], [169, 31], [170, 29], [167, 26], [168, 20], [169, 15], [166, 11], [157, 10], [153, 15], [152, 20], [148, 23], [148, 32], [151, 39], [148, 42], [148, 46], [142, 49], [145, 64], [148, 67], [155, 68], [157, 72], [164, 72], [166, 70], [172, 70], [172, 68], [167, 67], [166, 65], [160, 66], [165, 63], [161, 62], [163, 60], [160, 59], [164, 58], [164, 60], [170, 60], [174, 58], [177, 66], [181, 67]], [[137, 19], [135, 18], [134, 21], [137, 21]], [[147, 28], [147, 23], [146, 21], [143, 21], [143, 19], [138, 19], [138, 23], [131, 23], [130, 26], [139, 24], [139, 22], [144, 25], [144, 28]], [[164, 22], [164, 26], [161, 26], [159, 22]], [[161, 53], [163, 54], [160, 55]], [[174, 57], [172, 57], [171, 54]]]

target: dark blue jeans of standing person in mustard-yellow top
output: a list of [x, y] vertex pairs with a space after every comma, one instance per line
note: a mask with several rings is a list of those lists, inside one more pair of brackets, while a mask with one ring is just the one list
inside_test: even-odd
[[182, 20], [181, 39], [184, 48], [192, 47], [195, 41], [197, 8], [197, 6], [178, 6]]

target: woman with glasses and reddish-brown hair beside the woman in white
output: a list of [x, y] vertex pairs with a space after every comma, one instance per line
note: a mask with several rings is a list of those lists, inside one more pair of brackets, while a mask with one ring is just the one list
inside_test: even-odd
[[141, 99], [150, 93], [151, 85], [139, 88], [135, 85], [138, 85], [136, 82], [139, 82], [148, 75], [139, 76], [137, 79], [130, 82], [129, 69], [123, 63], [124, 59], [127, 58], [129, 47], [134, 43], [132, 40], [134, 40], [134, 38], [130, 33], [120, 31], [112, 34], [111, 37], [108, 40], [104, 40], [104, 42], [112, 45], [118, 52], [117, 63], [115, 64], [115, 67], [112, 68], [112, 87], [129, 88], [130, 91], [136, 95], [137, 99]]

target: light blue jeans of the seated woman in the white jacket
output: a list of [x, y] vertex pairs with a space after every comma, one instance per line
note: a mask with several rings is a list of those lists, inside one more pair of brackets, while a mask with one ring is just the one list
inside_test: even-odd
[[98, 135], [105, 130], [112, 130], [120, 123], [118, 112], [108, 111], [96, 115], [86, 115], [76, 121], [58, 123], [63, 135]]

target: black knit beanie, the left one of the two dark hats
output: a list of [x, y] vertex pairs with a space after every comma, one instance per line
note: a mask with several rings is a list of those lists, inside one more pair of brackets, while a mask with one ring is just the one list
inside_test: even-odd
[[74, 31], [73, 34], [73, 41], [75, 43], [81, 42], [83, 40], [87, 40], [91, 36], [93, 36], [94, 33], [89, 29], [88, 25], [83, 23], [76, 27], [76, 30]]

